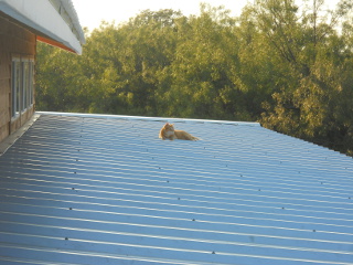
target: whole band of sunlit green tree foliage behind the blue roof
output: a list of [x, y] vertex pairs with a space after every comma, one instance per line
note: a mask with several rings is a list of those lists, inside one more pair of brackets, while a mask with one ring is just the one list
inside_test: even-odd
[[304, 3], [146, 10], [103, 22], [82, 56], [39, 44], [38, 109], [257, 120], [352, 155], [353, 4]]

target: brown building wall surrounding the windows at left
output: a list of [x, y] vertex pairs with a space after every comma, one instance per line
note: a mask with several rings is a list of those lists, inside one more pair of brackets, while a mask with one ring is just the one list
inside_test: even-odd
[[12, 59], [34, 59], [36, 36], [0, 12], [0, 141], [20, 128], [33, 114], [34, 104], [11, 118]]

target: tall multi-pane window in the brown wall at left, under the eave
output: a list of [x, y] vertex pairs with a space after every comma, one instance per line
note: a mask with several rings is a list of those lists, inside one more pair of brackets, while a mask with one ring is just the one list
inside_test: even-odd
[[12, 118], [33, 105], [34, 61], [12, 59]]

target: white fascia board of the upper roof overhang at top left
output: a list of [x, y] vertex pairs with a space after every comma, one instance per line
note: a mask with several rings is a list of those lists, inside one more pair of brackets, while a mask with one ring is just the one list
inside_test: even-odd
[[76, 35], [49, 0], [0, 0], [0, 11], [82, 54]]

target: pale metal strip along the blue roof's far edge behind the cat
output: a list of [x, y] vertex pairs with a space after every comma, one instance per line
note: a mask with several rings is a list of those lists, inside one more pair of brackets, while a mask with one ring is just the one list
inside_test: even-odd
[[52, 116], [72, 116], [72, 117], [83, 117], [83, 118], [101, 118], [101, 119], [129, 119], [129, 120], [165, 121], [165, 123], [224, 124], [224, 125], [260, 126], [259, 123], [214, 120], [214, 119], [145, 117], [145, 116], [127, 116], [127, 115], [111, 115], [111, 114], [83, 114], [83, 113], [57, 113], [57, 112], [35, 112], [35, 114], [39, 114], [39, 115], [52, 115]]

